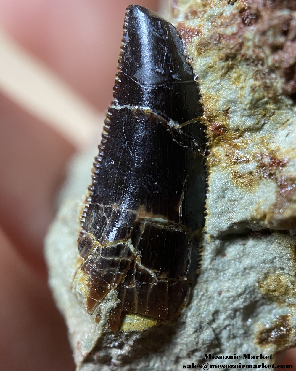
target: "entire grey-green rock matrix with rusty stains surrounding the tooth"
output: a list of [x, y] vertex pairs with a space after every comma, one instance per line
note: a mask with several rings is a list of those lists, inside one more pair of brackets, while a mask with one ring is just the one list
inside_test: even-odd
[[[198, 76], [209, 137], [202, 265], [175, 323], [115, 333], [85, 313], [70, 289], [83, 196], [64, 192], [46, 255], [78, 370], [173, 371], [202, 364], [204, 354], [275, 355], [295, 344], [296, 3], [229, 3], [174, 0], [168, 19]], [[79, 190], [91, 157], [73, 162]]]

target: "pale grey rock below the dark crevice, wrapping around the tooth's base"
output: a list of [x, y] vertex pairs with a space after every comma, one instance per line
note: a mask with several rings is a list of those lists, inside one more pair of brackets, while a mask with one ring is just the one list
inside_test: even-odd
[[[77, 187], [85, 158], [73, 163]], [[81, 197], [82, 203], [82, 197]], [[106, 331], [85, 312], [71, 287], [78, 266], [78, 214], [68, 199], [51, 226], [46, 256], [58, 308], [64, 314], [78, 370], [179, 370], [204, 354], [275, 354], [296, 336], [295, 243], [289, 232], [263, 230], [225, 239], [206, 236], [198, 283], [175, 323], [144, 331]], [[233, 363], [234, 362], [234, 363]], [[213, 364], [253, 364], [211, 360]], [[274, 359], [266, 361], [273, 364]]]

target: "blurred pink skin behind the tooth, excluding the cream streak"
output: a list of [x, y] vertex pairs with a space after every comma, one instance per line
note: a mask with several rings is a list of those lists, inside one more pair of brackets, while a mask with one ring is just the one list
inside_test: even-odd
[[[156, 0], [138, 3], [157, 10]], [[0, 0], [0, 22], [21, 46], [105, 112], [128, 4]], [[64, 322], [47, 287], [42, 249], [55, 194], [75, 148], [1, 93], [0, 111], [1, 370], [74, 370]], [[293, 349], [283, 357], [282, 364], [296, 365]]]

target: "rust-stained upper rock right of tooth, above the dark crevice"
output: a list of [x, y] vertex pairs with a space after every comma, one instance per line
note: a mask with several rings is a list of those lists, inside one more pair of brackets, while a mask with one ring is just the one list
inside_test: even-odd
[[207, 231], [295, 229], [295, 1], [174, 4], [209, 135]]

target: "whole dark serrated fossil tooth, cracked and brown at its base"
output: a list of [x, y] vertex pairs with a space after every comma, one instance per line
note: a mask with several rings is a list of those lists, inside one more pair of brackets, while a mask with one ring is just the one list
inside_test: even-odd
[[[124, 29], [121, 81], [78, 240], [87, 310], [116, 289], [120, 303], [109, 319], [115, 331], [122, 312], [160, 319], [178, 314], [196, 267], [193, 235], [203, 224], [206, 191], [199, 90], [175, 28], [129, 6]], [[191, 123], [172, 128], [170, 119]]]

